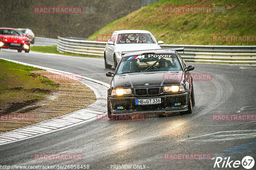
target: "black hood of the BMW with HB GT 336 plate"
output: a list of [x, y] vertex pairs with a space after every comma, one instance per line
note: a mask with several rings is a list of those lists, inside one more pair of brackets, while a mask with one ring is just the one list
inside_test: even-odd
[[[184, 79], [183, 71], [155, 71], [118, 74], [114, 77], [114, 88], [142, 88], [179, 85]], [[149, 85], [146, 86], [145, 84]]]

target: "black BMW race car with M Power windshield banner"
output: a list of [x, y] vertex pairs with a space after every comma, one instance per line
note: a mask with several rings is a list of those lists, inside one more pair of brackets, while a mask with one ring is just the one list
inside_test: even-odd
[[[192, 113], [193, 78], [177, 51], [184, 48], [123, 53], [108, 88], [108, 118], [133, 113]], [[176, 51], [177, 50], [177, 51]]]

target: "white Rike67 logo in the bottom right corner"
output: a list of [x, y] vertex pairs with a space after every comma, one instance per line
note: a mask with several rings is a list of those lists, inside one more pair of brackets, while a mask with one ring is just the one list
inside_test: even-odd
[[215, 163], [214, 163], [214, 168], [215, 167], [218, 167], [218, 168], [238, 168], [242, 166], [245, 168], [245, 169], [251, 169], [253, 166], [254, 166], [254, 159], [251, 157], [251, 156], [245, 156], [242, 161], [240, 160], [229, 160], [230, 157], [228, 157], [228, 160], [227, 160], [227, 157], [225, 157], [224, 159], [222, 159], [221, 157], [217, 157], [216, 160], [215, 160]]

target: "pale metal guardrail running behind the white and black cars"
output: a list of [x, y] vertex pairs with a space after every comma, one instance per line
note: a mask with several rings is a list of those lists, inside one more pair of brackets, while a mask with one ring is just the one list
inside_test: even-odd
[[[60, 53], [76, 53], [104, 56], [107, 42], [75, 40], [58, 37], [57, 50]], [[255, 64], [256, 46], [200, 46], [200, 45], [160, 45], [161, 48], [184, 47], [181, 57], [188, 62]]]

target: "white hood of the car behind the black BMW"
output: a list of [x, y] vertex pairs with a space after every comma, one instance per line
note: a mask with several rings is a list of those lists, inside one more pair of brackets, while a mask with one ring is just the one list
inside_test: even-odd
[[158, 44], [115, 44], [117, 52], [161, 49]]

